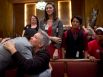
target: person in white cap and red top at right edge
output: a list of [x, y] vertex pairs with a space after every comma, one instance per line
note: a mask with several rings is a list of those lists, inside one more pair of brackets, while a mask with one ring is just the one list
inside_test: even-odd
[[92, 61], [100, 59], [100, 53], [103, 52], [103, 28], [96, 29], [96, 38], [88, 43], [88, 58]]

